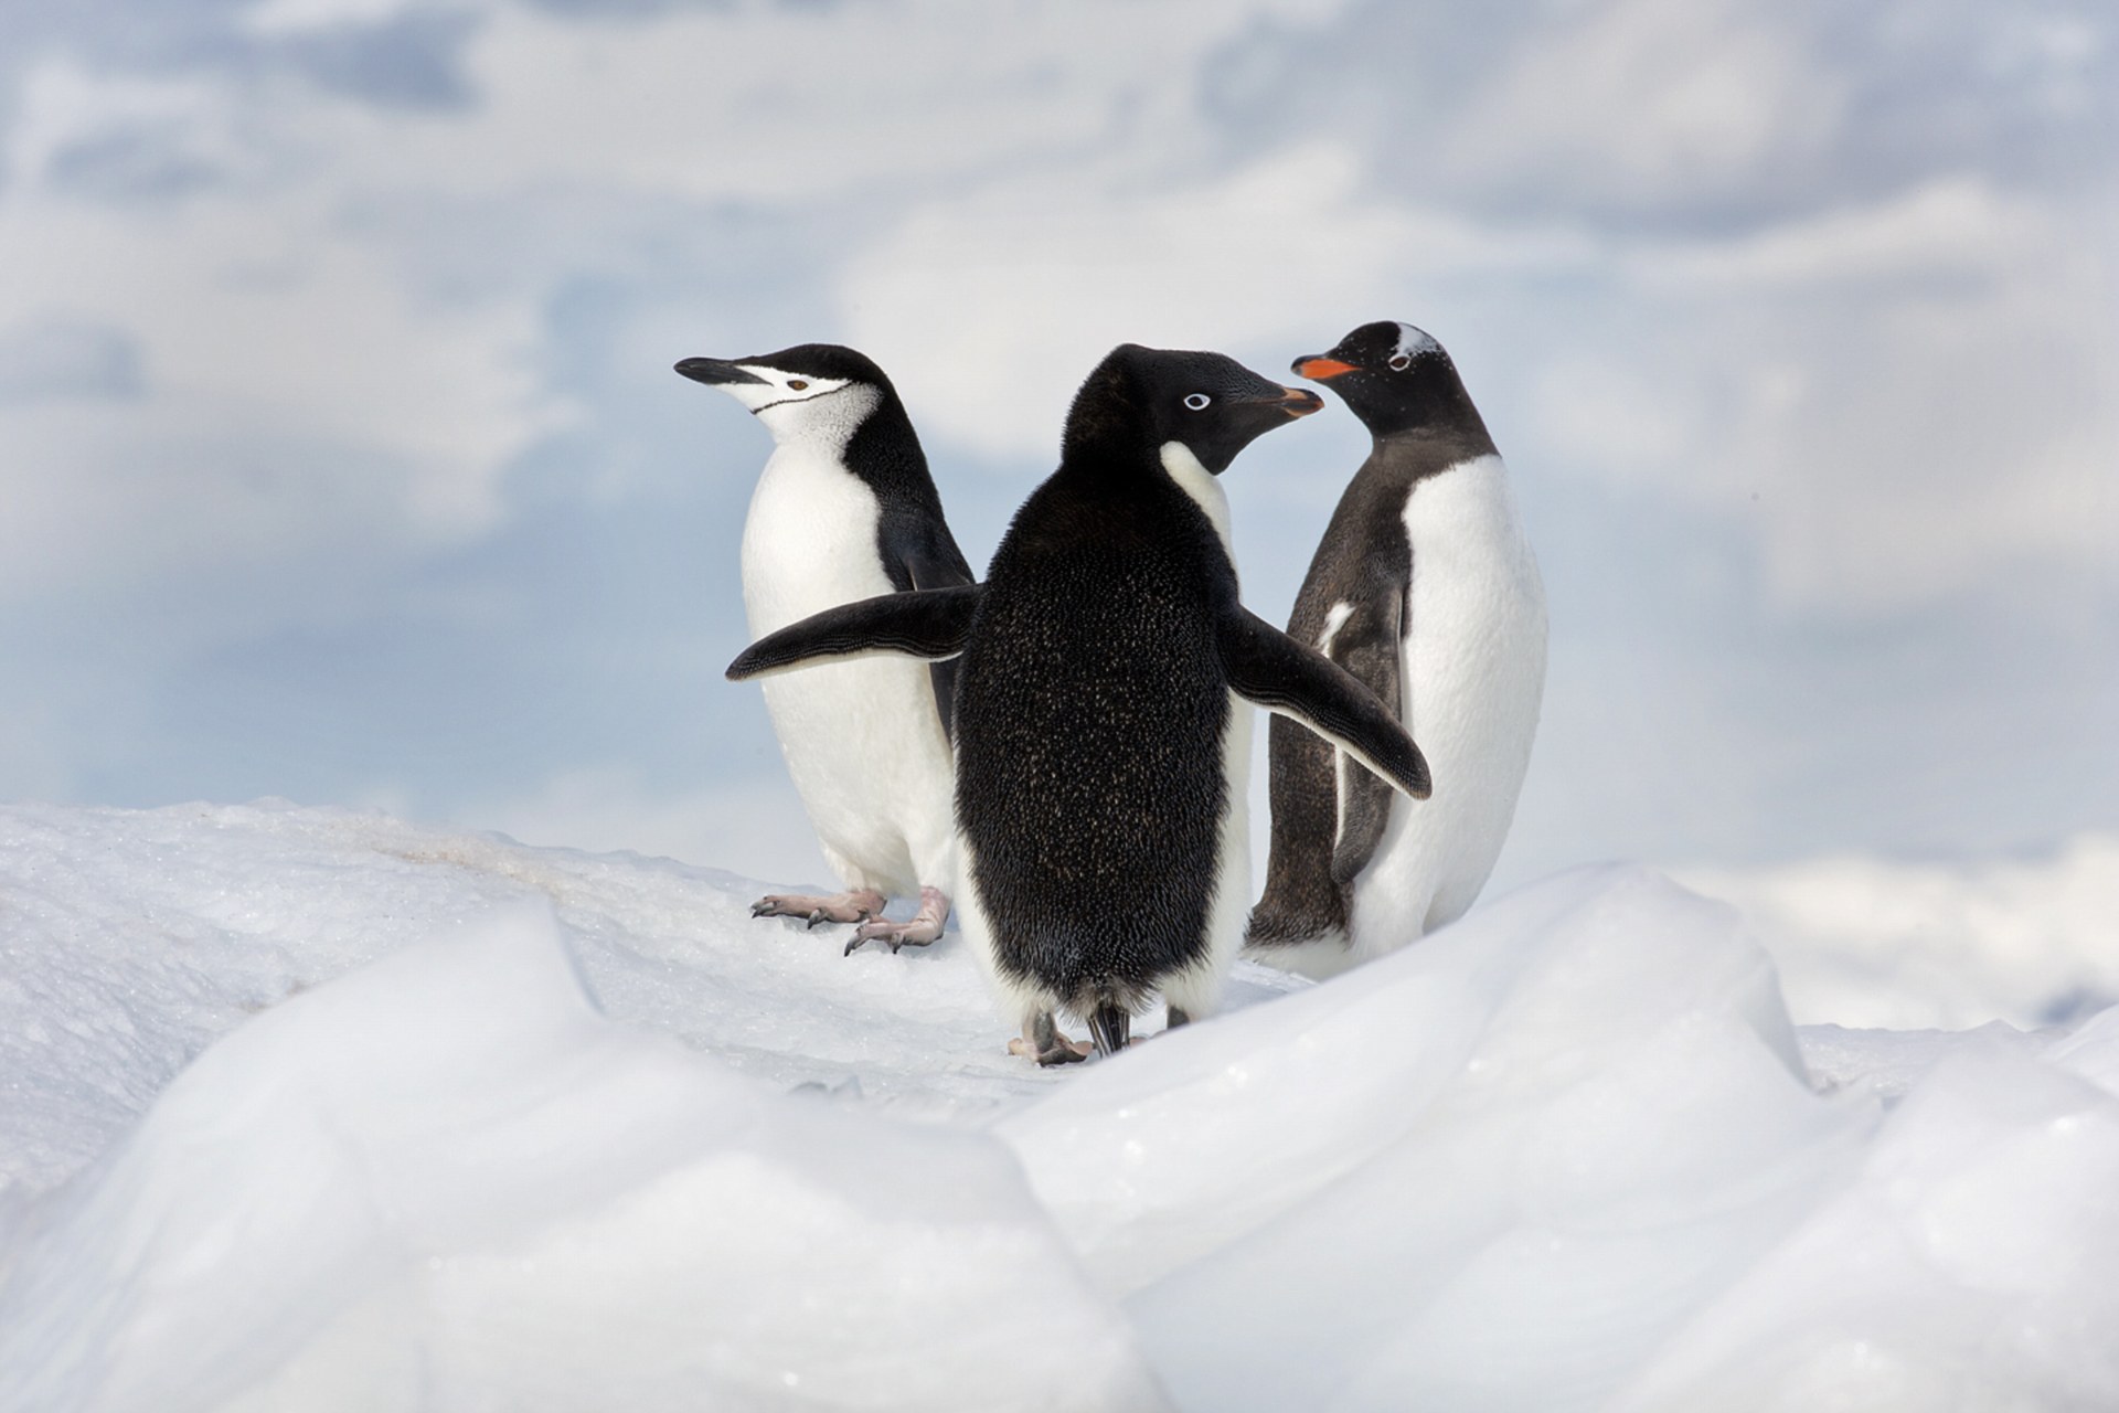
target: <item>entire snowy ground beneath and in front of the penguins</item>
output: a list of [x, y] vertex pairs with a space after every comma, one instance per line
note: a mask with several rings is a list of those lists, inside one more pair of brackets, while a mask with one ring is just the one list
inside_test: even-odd
[[2043, 1030], [1797, 1030], [1735, 913], [1583, 869], [1038, 1072], [954, 934], [723, 873], [0, 809], [0, 1409], [2119, 1407], [2077, 852], [2079, 934], [1937, 894], [1920, 966], [1793, 907], [1858, 869], [1695, 879], [1803, 1019]]

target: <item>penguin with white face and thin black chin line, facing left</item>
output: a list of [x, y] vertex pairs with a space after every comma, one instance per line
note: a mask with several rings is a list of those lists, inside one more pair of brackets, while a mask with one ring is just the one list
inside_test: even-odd
[[[803, 343], [733, 362], [687, 358], [676, 371], [720, 388], [773, 434], [744, 521], [752, 638], [875, 593], [971, 583], [911, 417], [869, 358]], [[763, 688], [795, 792], [845, 892], [771, 894], [752, 917], [858, 922], [848, 953], [869, 941], [892, 951], [932, 943], [956, 875], [956, 665], [841, 663]], [[886, 922], [886, 894], [918, 894], [920, 911]]]

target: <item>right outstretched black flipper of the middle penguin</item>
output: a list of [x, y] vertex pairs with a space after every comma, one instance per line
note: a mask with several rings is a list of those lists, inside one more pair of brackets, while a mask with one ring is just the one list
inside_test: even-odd
[[1413, 737], [1346, 667], [1242, 606], [1221, 621], [1218, 646], [1229, 691], [1299, 720], [1413, 799], [1428, 797]]

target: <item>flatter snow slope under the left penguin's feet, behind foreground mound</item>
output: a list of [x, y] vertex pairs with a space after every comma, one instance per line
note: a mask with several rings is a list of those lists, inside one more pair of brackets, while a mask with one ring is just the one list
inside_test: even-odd
[[[663, 858], [523, 847], [375, 813], [0, 807], [0, 1193], [108, 1148], [216, 1036], [439, 928], [549, 902], [602, 1008], [782, 1089], [977, 1119], [1064, 1083], [954, 932], [841, 958], [845, 928], [759, 922], [765, 892]], [[1231, 1004], [1307, 983], [1240, 968]]]

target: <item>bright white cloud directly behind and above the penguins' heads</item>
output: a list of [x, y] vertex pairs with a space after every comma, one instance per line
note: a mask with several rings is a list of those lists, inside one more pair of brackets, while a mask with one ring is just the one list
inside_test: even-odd
[[907, 369], [924, 428], [1043, 458], [1119, 341], [1293, 356], [1394, 307], [1409, 282], [1583, 258], [1564, 233], [1377, 199], [1350, 153], [1303, 146], [1216, 180], [1112, 163], [939, 199], [850, 263], [841, 301], [856, 343]]

